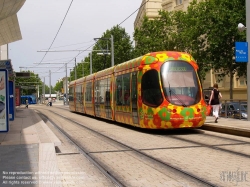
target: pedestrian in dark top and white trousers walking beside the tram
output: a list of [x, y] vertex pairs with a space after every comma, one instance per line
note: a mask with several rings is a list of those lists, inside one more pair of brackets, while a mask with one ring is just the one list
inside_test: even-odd
[[213, 86], [213, 90], [211, 91], [210, 99], [209, 99], [209, 105], [212, 105], [213, 107], [213, 116], [215, 117], [215, 123], [218, 123], [219, 118], [219, 110], [220, 110], [220, 99], [222, 98], [222, 95], [220, 91], [218, 90], [218, 84], [215, 83]]

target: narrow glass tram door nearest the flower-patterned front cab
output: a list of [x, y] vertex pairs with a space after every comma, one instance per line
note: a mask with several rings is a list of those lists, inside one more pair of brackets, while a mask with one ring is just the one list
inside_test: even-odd
[[138, 124], [138, 107], [137, 107], [137, 72], [132, 73], [131, 82], [131, 96], [132, 96], [132, 118], [133, 123]]

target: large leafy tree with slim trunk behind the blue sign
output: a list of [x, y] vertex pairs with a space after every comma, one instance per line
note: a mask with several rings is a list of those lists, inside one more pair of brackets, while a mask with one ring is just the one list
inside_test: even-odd
[[[202, 53], [197, 58], [211, 64], [222, 77], [230, 77], [230, 99], [233, 99], [233, 76], [246, 75], [246, 64], [235, 63], [235, 42], [245, 41], [245, 33], [239, 33], [237, 25], [245, 22], [245, 0], [193, 1], [187, 11], [189, 41], [199, 41]], [[191, 34], [192, 33], [192, 34]], [[197, 48], [198, 49], [198, 48]], [[198, 57], [199, 56], [199, 57]], [[204, 64], [205, 65], [205, 64]]]

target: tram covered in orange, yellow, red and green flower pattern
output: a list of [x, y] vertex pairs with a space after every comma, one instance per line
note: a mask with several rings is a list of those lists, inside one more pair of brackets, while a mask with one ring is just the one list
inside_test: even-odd
[[70, 82], [69, 109], [139, 128], [197, 128], [207, 110], [197, 70], [187, 53], [148, 53]]

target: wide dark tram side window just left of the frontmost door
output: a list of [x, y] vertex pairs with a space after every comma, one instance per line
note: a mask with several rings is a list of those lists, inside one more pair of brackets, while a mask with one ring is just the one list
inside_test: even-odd
[[130, 105], [130, 74], [117, 76], [116, 78], [116, 104]]

